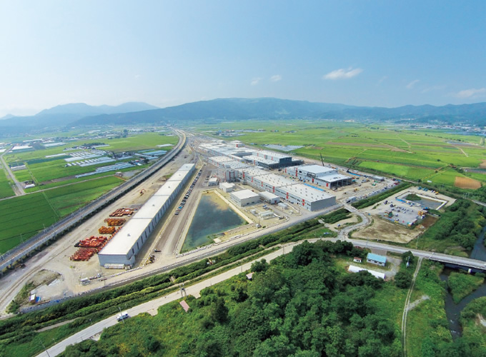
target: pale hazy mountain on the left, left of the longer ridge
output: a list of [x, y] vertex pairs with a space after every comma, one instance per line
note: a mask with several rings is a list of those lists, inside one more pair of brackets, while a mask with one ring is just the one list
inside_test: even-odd
[[43, 128], [46, 126], [65, 126], [73, 121], [88, 116], [100, 114], [129, 113], [132, 111], [146, 111], [159, 109], [142, 102], [129, 102], [119, 106], [89, 106], [84, 103], [64, 104], [54, 106], [51, 109], [44, 109], [34, 116], [11, 116], [0, 120], [1, 131], [10, 133], [29, 131], [29, 128]]

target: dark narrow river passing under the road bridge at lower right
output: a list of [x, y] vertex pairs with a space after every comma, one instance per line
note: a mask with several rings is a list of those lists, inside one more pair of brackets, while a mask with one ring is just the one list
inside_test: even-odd
[[[475, 243], [474, 248], [470, 254], [470, 258], [480, 261], [486, 261], [486, 247], [484, 245], [486, 227], [482, 228], [481, 234]], [[440, 274], [440, 280], [447, 281], [450, 272], [453, 271], [450, 268], [445, 268]], [[445, 296], [445, 314], [449, 321], [449, 329], [452, 334], [452, 338], [456, 339], [461, 336], [462, 328], [460, 325], [461, 311], [465, 306], [473, 301], [475, 298], [486, 296], [486, 283], [483, 283], [479, 288], [463, 298], [459, 303], [455, 304], [452, 300], [452, 294], [446, 291]]]

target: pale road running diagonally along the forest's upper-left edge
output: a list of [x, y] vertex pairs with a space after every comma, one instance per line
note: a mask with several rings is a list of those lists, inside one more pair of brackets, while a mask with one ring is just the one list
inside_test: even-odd
[[[278, 251], [269, 253], [264, 258], [267, 261], [272, 261], [274, 258], [277, 258], [277, 256], [281, 256], [284, 253], [284, 251], [285, 253], [289, 253], [289, 251], [292, 251], [292, 248], [295, 245], [296, 245], [295, 243], [291, 243], [285, 248], [282, 247]], [[255, 261], [258, 261], [260, 259], [262, 258], [255, 259]], [[199, 298], [200, 296], [199, 293], [200, 291], [202, 291], [202, 289], [207, 288], [208, 286], [212, 286], [213, 284], [225, 281], [229, 278], [232, 278], [233, 276], [236, 276], [239, 273], [242, 273], [243, 271], [249, 270], [253, 262], [254, 261], [251, 261], [249, 263], [244, 263], [242, 266], [239, 266], [238, 268], [233, 268], [229, 271], [225, 271], [224, 273], [219, 274], [218, 276], [214, 276], [207, 280], [196, 283], [192, 286], [187, 286], [186, 293], [188, 295], [192, 295]], [[129, 308], [126, 311], [128, 311], [129, 316], [137, 316], [139, 313], [150, 313], [153, 316], [157, 314], [157, 309], [159, 308], [159, 306], [162, 306], [166, 303], [170, 303], [172, 301], [176, 301], [181, 297], [182, 297], [181, 293], [179, 291], [175, 291], [174, 293], [169, 293], [167, 296], [162, 296], [155, 300], [148, 301], [147, 303], [142, 303], [139, 306], [134, 306], [133, 308]], [[84, 330], [75, 333], [72, 336], [69, 336], [64, 341], [57, 343], [51, 348], [48, 348], [47, 352], [49, 353], [50, 357], [57, 356], [60, 353], [62, 353], [67, 346], [73, 345], [74, 343], [79, 343], [81, 341], [86, 340], [87, 338], [96, 336], [98, 333], [101, 333], [104, 330], [104, 328], [108, 328], [110, 326], [116, 325], [116, 323], [118, 323], [116, 322], [116, 315], [110, 316], [109, 318], [105, 318], [104, 320], [99, 321], [98, 323], [95, 323], [94, 325], [89, 326]], [[42, 352], [38, 356], [48, 357], [48, 353]]]

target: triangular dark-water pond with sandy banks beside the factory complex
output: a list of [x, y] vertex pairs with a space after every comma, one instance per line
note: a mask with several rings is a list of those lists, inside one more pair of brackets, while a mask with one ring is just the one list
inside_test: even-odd
[[182, 252], [213, 243], [224, 231], [247, 223], [214, 193], [204, 193], [192, 218]]

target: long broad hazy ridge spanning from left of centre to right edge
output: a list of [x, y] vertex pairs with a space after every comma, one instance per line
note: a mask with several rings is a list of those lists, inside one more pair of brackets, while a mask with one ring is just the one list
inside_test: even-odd
[[460, 106], [400, 106], [398, 108], [347, 106], [285, 99], [214, 99], [164, 109], [125, 114], [103, 114], [74, 121], [70, 125], [167, 123], [244, 119], [354, 119], [461, 122], [486, 124], [486, 103]]

